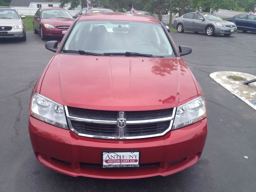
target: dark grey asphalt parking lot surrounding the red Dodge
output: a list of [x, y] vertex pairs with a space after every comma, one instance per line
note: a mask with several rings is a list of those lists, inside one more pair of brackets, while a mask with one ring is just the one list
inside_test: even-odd
[[255, 191], [256, 111], [209, 74], [256, 75], [256, 33], [171, 35], [177, 46], [192, 47], [183, 58], [206, 96], [209, 130], [197, 164], [171, 176], [133, 180], [72, 178], [41, 165], [28, 134], [30, 92], [53, 52], [27, 32], [26, 42], [0, 40], [0, 191]]

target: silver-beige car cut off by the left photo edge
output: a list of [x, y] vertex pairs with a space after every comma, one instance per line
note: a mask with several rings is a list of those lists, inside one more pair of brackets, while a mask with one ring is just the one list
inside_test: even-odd
[[0, 38], [19, 38], [26, 41], [26, 30], [22, 19], [14, 8], [0, 6]]

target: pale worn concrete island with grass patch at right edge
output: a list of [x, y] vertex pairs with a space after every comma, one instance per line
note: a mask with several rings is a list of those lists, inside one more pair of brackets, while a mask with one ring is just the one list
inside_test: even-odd
[[227, 78], [233, 75], [243, 77], [246, 80], [256, 78], [251, 74], [232, 71], [214, 72], [210, 74], [210, 77], [256, 110], [256, 104], [253, 102], [256, 100], [256, 82], [244, 85], [242, 84], [243, 81]]

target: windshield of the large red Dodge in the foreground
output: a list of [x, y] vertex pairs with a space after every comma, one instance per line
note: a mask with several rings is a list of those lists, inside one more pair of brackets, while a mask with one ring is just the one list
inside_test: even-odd
[[162, 26], [146, 22], [78, 21], [63, 50], [175, 57]]

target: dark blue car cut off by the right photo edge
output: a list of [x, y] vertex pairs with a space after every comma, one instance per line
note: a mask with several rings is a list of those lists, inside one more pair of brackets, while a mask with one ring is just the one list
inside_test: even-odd
[[237, 29], [243, 32], [256, 31], [256, 15], [240, 14], [227, 20], [236, 24]]

